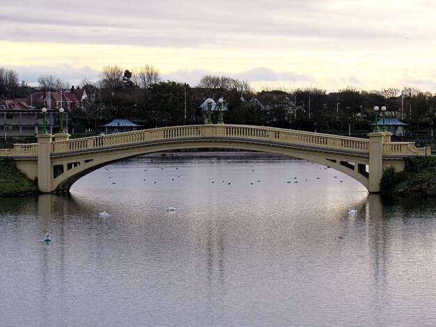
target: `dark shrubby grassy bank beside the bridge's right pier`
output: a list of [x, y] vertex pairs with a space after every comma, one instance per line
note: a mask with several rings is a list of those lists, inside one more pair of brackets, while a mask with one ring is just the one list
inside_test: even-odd
[[396, 173], [393, 168], [383, 172], [380, 192], [396, 196], [436, 197], [436, 157], [406, 161], [406, 168]]

